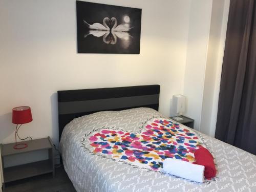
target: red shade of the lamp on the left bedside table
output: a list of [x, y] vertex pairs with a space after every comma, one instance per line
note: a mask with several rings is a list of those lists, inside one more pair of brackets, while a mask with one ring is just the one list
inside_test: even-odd
[[29, 106], [17, 106], [12, 109], [12, 123], [24, 124], [31, 122], [32, 114]]

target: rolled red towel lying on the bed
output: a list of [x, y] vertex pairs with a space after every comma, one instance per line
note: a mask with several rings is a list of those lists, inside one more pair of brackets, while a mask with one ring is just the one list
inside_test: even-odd
[[216, 167], [214, 164], [214, 157], [204, 147], [200, 147], [194, 153], [196, 164], [204, 166], [204, 177], [210, 179], [216, 176]]

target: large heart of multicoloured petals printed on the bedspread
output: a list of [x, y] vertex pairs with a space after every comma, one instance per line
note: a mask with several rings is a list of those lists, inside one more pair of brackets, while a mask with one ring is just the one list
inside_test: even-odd
[[193, 163], [194, 152], [202, 145], [195, 133], [162, 118], [148, 121], [141, 134], [104, 129], [89, 140], [94, 153], [154, 170], [162, 168], [166, 158]]

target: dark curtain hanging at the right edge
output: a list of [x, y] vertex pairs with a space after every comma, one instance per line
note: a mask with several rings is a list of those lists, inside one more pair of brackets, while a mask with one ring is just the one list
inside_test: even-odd
[[215, 137], [256, 155], [255, 6], [230, 0]]

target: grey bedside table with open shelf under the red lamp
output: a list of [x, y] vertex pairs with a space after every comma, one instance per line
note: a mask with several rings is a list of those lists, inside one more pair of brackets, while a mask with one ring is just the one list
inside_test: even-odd
[[[23, 142], [17, 142], [23, 143]], [[54, 169], [54, 155], [53, 155], [53, 142], [50, 137], [35, 139], [32, 141], [26, 141], [28, 147], [23, 148], [22, 150], [15, 150], [13, 146], [15, 143], [9, 144], [0, 144], [1, 155], [2, 155], [2, 164], [3, 164], [3, 175], [4, 175], [4, 185], [7, 182], [16, 181], [19, 179], [25, 179], [28, 177], [33, 177], [37, 175], [52, 173], [53, 177], [55, 175]], [[23, 165], [17, 165], [12, 167], [4, 168], [4, 157], [12, 156], [22, 153], [48, 150], [49, 159], [43, 161], [36, 161], [32, 163], [27, 163]]]

